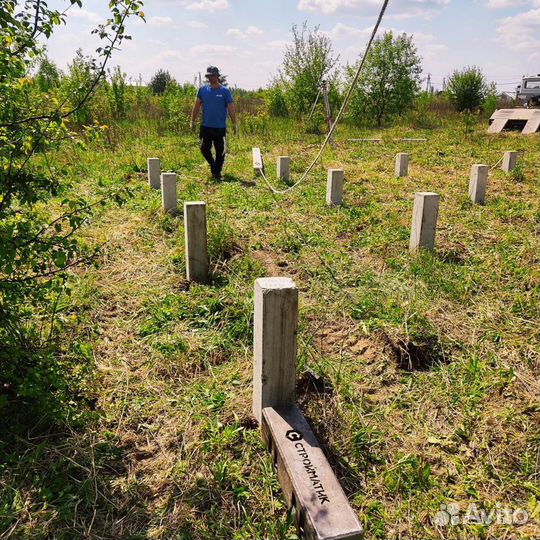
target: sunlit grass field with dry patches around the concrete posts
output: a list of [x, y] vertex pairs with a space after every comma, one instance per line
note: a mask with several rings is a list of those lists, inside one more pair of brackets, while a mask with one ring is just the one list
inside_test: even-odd
[[[296, 538], [251, 415], [252, 291], [270, 275], [299, 288], [297, 397], [366, 538], [540, 537], [538, 134], [343, 127], [275, 196], [253, 177], [252, 146], [270, 178], [289, 155], [295, 180], [321, 137], [292, 121], [256, 128], [229, 137], [222, 182], [194, 136], [153, 124], [54, 156], [81, 195], [129, 182], [133, 197], [84, 230], [106, 244], [60, 314], [63, 350], [95, 365], [96, 414], [6, 431], [0, 538]], [[362, 136], [384, 140], [347, 140]], [[508, 175], [504, 150], [523, 151]], [[396, 179], [400, 151], [409, 176]], [[146, 182], [154, 156], [179, 175], [180, 209], [207, 203], [209, 285], [185, 280], [181, 211], [163, 215]], [[467, 197], [474, 163], [493, 166], [484, 206]], [[345, 171], [341, 208], [325, 205], [330, 167]], [[441, 194], [433, 253], [408, 252], [416, 191]], [[436, 528], [450, 503], [529, 519]]]

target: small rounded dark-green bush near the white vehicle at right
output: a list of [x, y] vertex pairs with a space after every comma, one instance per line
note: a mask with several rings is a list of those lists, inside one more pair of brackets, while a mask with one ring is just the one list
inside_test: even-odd
[[482, 70], [470, 66], [450, 75], [446, 92], [456, 110], [473, 112], [488, 96], [489, 86]]

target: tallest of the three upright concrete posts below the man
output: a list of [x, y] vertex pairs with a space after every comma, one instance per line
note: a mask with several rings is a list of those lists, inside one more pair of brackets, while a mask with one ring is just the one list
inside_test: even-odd
[[186, 240], [186, 277], [189, 281], [208, 281], [208, 244], [206, 232], [206, 203], [184, 203], [184, 232]]

